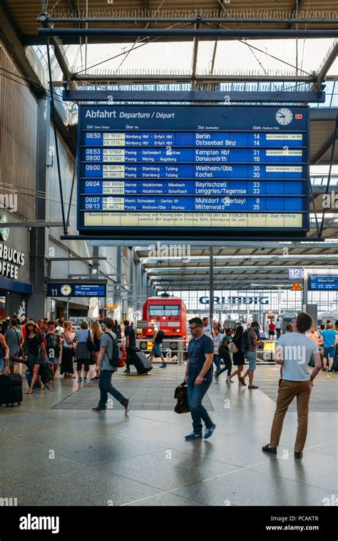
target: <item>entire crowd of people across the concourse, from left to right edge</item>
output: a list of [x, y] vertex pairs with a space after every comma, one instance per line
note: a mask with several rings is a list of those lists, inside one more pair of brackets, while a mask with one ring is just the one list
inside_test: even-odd
[[[313, 325], [309, 314], [299, 312], [293, 324], [285, 327], [268, 323], [269, 336], [277, 332], [277, 349], [275, 362], [281, 365], [280, 384], [277, 406], [270, 443], [262, 450], [277, 453], [282, 432], [282, 424], [293, 398], [297, 397], [298, 431], [295, 443], [295, 456], [302, 457], [307, 436], [307, 415], [309, 397], [314, 378], [322, 369], [336, 371], [338, 369], [338, 321], [333, 324], [327, 320], [320, 329]], [[126, 338], [126, 369], [130, 373], [130, 351], [135, 348], [136, 334], [133, 323], [123, 321]], [[150, 361], [154, 357], [162, 359], [160, 368], [167, 364], [162, 353], [163, 331], [154, 324], [153, 349]], [[210, 325], [209, 319], [195, 317], [189, 320], [191, 339], [188, 343], [188, 362], [185, 369], [185, 381], [188, 388], [188, 403], [193, 418], [193, 432], [185, 436], [186, 440], [202, 438], [202, 421], [205, 422], [205, 439], [210, 438], [215, 430], [208, 412], [203, 406], [203, 397], [212, 382], [212, 375], [218, 383], [222, 373], [226, 373], [226, 384], [231, 387], [237, 376], [239, 386], [257, 389], [254, 385], [254, 373], [257, 363], [257, 346], [262, 341], [258, 321], [245, 328], [238, 322], [235, 329], [221, 324]], [[273, 334], [272, 334], [273, 333]], [[123, 396], [111, 384], [111, 378], [118, 366], [118, 340], [121, 339], [121, 326], [111, 318], [93, 321], [89, 328], [88, 321], [82, 321], [80, 329], [73, 329], [71, 321], [50, 320], [47, 318], [34, 321], [19, 321], [16, 314], [1, 322], [0, 329], [0, 371], [16, 373], [18, 365], [24, 362], [27, 366], [26, 377], [29, 381], [27, 394], [34, 391], [38, 383], [43, 390], [40, 368], [43, 364], [50, 367], [51, 381], [56, 378], [58, 366], [63, 378], [76, 378], [73, 364], [76, 361], [78, 383], [88, 382], [91, 366], [95, 376], [91, 381], [99, 380], [100, 400], [93, 411], [105, 412], [110, 393], [125, 408], [130, 409], [130, 399]], [[245, 359], [247, 369], [245, 370]], [[212, 365], [215, 364], [215, 371]], [[221, 365], [224, 365], [222, 368]], [[232, 365], [235, 370], [232, 371]], [[308, 366], [313, 366], [309, 373]], [[28, 376], [27, 376], [28, 372]], [[212, 374], [213, 373], [213, 374]], [[83, 374], [83, 377], [82, 377]], [[248, 378], [248, 385], [245, 379]]]

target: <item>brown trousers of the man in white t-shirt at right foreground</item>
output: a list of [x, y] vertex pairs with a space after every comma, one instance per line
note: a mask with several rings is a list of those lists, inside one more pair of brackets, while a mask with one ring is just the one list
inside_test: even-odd
[[297, 396], [298, 430], [295, 443], [295, 451], [302, 451], [307, 439], [307, 420], [309, 415], [309, 398], [311, 396], [312, 383], [309, 381], [290, 381], [282, 379], [278, 390], [275, 417], [273, 418], [270, 445], [278, 447], [282, 433], [283, 422], [287, 408]]

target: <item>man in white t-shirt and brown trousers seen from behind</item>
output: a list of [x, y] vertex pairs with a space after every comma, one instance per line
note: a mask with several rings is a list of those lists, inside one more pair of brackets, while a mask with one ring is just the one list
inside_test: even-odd
[[[317, 342], [305, 336], [313, 321], [306, 312], [299, 312], [293, 324], [293, 332], [282, 334], [277, 342], [275, 362], [282, 365], [282, 379], [278, 389], [275, 417], [272, 422], [270, 443], [262, 448], [266, 453], [277, 453], [283, 421], [287, 408], [297, 396], [298, 430], [295, 442], [295, 458], [302, 458], [307, 439], [309, 398], [313, 380], [322, 368]], [[314, 369], [309, 373], [308, 364], [314, 360]]]

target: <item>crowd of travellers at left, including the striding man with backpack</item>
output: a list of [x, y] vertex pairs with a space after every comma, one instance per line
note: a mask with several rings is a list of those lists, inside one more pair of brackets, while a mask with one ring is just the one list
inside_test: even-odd
[[[133, 325], [128, 320], [123, 324], [127, 346], [135, 345]], [[88, 383], [88, 373], [93, 366], [95, 376], [91, 380], [100, 380], [101, 391], [98, 408], [93, 408], [93, 411], [105, 410], [103, 406], [109, 392], [125, 406], [128, 413], [130, 401], [111, 386], [111, 376], [117, 369], [112, 360], [114, 344], [118, 347], [118, 339], [121, 339], [121, 326], [111, 318], [93, 321], [91, 329], [88, 321], [82, 321], [80, 329], [73, 329], [71, 321], [48, 321], [48, 318], [19, 321], [14, 314], [11, 319], [1, 321], [0, 372], [17, 373], [19, 364], [26, 364], [27, 394], [32, 394], [36, 382], [41, 391], [44, 389], [41, 366], [45, 364], [50, 370], [51, 383], [55, 381], [58, 366], [63, 378], [76, 378], [74, 361], [78, 383]]]

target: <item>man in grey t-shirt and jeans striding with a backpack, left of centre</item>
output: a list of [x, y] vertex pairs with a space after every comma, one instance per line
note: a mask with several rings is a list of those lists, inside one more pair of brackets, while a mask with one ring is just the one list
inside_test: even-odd
[[92, 411], [106, 411], [108, 393], [110, 393], [125, 408], [125, 415], [130, 409], [130, 399], [125, 398], [111, 384], [111, 376], [117, 371], [118, 365], [118, 342], [114, 339], [112, 332], [114, 321], [110, 317], [103, 319], [103, 334], [100, 340], [100, 351], [98, 352], [97, 368], [101, 370], [100, 381], [100, 401]]

